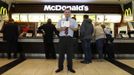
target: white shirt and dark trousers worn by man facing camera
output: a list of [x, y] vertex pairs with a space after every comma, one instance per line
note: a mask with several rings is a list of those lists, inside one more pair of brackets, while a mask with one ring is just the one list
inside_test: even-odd
[[[66, 18], [61, 19], [56, 28], [62, 27], [62, 22], [66, 21]], [[72, 19], [71, 17], [68, 18], [68, 21], [70, 22], [71, 28], [78, 28], [77, 22]], [[59, 60], [58, 60], [58, 68], [63, 69], [63, 62], [64, 62], [64, 54], [67, 54], [67, 67], [68, 70], [72, 69], [72, 56], [73, 56], [73, 34], [74, 31], [68, 27], [68, 34], [66, 34], [66, 31], [61, 31], [59, 33], [60, 36], [60, 49], [59, 49]]]

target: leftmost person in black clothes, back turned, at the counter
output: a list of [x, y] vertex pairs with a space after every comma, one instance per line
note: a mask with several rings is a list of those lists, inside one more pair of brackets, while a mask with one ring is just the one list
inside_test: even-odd
[[9, 19], [9, 22], [3, 27], [3, 40], [6, 41], [8, 47], [8, 59], [11, 58], [11, 53], [14, 53], [14, 58], [17, 57], [18, 35], [18, 25], [14, 23], [13, 19]]

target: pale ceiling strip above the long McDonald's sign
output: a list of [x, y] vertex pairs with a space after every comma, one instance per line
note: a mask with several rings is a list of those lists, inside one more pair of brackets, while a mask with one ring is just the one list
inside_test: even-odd
[[96, 3], [96, 4], [120, 4], [132, 0], [2, 0], [6, 3]]

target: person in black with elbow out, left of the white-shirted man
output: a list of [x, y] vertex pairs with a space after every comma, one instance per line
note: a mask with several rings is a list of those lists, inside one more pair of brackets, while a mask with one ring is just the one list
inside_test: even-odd
[[55, 26], [52, 24], [51, 19], [47, 20], [46, 24], [40, 26], [39, 31], [43, 33], [43, 41], [45, 48], [46, 59], [56, 59], [56, 52], [53, 43], [53, 32], [59, 36], [59, 32], [56, 30]]

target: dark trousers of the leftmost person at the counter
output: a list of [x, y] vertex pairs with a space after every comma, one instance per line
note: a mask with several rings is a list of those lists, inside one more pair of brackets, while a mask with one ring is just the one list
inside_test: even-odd
[[7, 41], [7, 55], [8, 58], [11, 58], [11, 53], [14, 53], [13, 57], [17, 57], [17, 49], [18, 49], [18, 45], [17, 42], [12, 42], [12, 41]]

